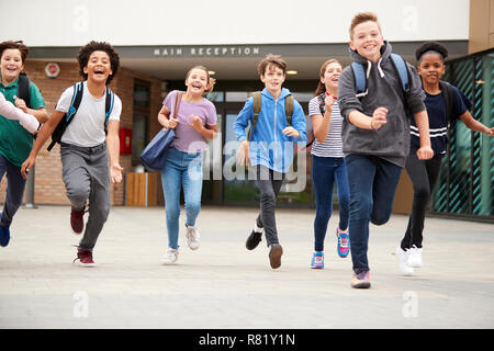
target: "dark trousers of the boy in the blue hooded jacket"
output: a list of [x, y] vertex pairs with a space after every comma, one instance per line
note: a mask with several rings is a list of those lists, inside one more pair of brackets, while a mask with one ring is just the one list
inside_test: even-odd
[[265, 166], [256, 166], [257, 184], [260, 190], [260, 213], [257, 217], [257, 226], [265, 228], [266, 242], [280, 244], [278, 240], [277, 220], [274, 208], [280, 193], [284, 173], [273, 171]]

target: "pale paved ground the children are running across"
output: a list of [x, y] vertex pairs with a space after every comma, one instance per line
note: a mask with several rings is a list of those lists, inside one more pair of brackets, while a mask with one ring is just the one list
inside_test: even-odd
[[[494, 226], [426, 219], [425, 267], [398, 274], [393, 251], [407, 218], [371, 227], [372, 288], [350, 288], [351, 260], [336, 254], [329, 222], [326, 268], [308, 268], [314, 211], [279, 210], [284, 254], [269, 267], [265, 241], [245, 249], [254, 208], [203, 207], [202, 246], [160, 265], [160, 207], [113, 207], [94, 250], [97, 268], [71, 264], [78, 244], [69, 207], [21, 208], [0, 248], [0, 328], [493, 328]], [[183, 227], [183, 225], [182, 225]]]

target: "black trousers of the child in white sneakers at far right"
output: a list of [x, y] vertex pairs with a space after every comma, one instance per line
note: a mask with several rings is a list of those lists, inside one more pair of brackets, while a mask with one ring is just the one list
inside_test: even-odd
[[405, 169], [414, 185], [414, 201], [408, 218], [408, 227], [403, 237], [402, 249], [409, 249], [414, 245], [422, 248], [425, 213], [429, 204], [434, 186], [439, 178], [442, 155], [435, 155], [430, 160], [419, 160], [416, 150], [411, 150], [406, 159]]

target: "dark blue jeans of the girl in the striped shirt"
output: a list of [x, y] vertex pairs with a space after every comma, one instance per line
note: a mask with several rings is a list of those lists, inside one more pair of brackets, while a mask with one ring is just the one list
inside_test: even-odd
[[348, 208], [350, 191], [348, 174], [343, 157], [312, 156], [312, 181], [316, 200], [316, 216], [314, 218], [314, 250], [324, 251], [327, 223], [333, 213], [333, 188], [336, 181], [339, 202], [339, 228], [348, 228]]

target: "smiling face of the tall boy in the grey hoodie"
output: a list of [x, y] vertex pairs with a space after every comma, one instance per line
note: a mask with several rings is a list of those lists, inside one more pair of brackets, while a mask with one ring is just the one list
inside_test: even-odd
[[377, 22], [367, 21], [355, 26], [350, 48], [357, 50], [360, 56], [371, 61], [378, 61], [383, 45], [384, 39]]

